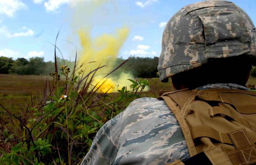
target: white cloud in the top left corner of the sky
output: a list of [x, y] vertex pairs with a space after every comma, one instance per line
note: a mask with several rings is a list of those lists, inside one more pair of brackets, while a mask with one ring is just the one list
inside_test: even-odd
[[20, 0], [0, 0], [0, 14], [14, 16], [19, 9], [26, 9], [27, 6]]

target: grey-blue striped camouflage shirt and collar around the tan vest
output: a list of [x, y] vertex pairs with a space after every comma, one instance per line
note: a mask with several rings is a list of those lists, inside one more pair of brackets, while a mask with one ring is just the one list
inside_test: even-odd
[[[198, 89], [248, 88], [208, 84]], [[189, 158], [180, 124], [165, 101], [144, 97], [109, 120], [97, 133], [82, 165], [163, 165]]]

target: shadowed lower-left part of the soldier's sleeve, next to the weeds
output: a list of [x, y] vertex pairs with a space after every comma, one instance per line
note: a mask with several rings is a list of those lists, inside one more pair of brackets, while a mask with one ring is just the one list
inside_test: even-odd
[[109, 165], [119, 149], [122, 113], [109, 120], [96, 134], [82, 165]]

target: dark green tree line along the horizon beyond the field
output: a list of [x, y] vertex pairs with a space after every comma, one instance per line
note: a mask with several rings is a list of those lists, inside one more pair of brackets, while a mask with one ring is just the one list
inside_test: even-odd
[[[115, 66], [120, 65], [125, 60], [118, 58]], [[64, 65], [63, 59], [57, 58], [58, 68]], [[65, 65], [72, 69], [74, 62], [65, 60]], [[143, 58], [143, 57], [129, 57], [129, 60], [117, 69], [115, 74], [122, 72], [129, 72], [134, 77], [152, 78], [157, 77], [158, 57]], [[0, 57], [0, 74], [21, 74], [21, 75], [49, 75], [54, 72], [54, 62], [44, 61], [43, 57], [33, 57], [29, 60], [25, 58], [18, 58], [13, 60], [8, 57]]]

